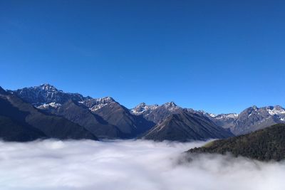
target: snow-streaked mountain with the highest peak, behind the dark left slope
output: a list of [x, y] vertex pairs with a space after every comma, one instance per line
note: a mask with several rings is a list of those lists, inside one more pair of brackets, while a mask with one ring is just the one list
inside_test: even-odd
[[[53, 85], [44, 84], [11, 91], [38, 109], [61, 115], [86, 127], [98, 137], [132, 138], [153, 127], [153, 122], [115, 102], [112, 97], [83, 97], [78, 93], [64, 93]], [[69, 107], [66, 110], [66, 107]]]

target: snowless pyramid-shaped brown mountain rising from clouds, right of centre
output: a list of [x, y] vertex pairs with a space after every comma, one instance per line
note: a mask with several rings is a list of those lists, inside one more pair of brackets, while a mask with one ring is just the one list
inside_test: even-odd
[[223, 139], [233, 134], [214, 124], [207, 117], [182, 110], [153, 127], [143, 138], [157, 141], [171, 140], [186, 142], [190, 140]]

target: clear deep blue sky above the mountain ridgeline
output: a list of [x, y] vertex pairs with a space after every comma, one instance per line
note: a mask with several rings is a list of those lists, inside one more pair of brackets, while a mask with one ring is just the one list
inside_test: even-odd
[[285, 106], [285, 1], [0, 1], [0, 85], [133, 107]]

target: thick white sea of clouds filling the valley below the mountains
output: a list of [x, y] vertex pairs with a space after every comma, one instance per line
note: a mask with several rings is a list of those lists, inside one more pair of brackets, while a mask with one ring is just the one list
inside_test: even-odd
[[[0, 189], [285, 189], [285, 163], [192, 155], [204, 142], [0, 142]], [[187, 162], [191, 160], [191, 162]]]

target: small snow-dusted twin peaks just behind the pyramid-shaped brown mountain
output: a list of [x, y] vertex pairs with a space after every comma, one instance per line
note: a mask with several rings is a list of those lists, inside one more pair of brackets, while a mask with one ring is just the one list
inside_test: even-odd
[[146, 120], [156, 124], [162, 122], [169, 115], [182, 112], [182, 107], [179, 107], [175, 102], [167, 102], [163, 105], [146, 105], [142, 102], [130, 110], [133, 115], [142, 115]]

